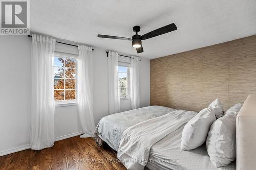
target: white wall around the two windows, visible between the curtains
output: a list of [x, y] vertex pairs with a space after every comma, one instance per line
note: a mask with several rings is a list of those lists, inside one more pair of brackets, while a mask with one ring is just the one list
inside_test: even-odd
[[[56, 47], [61, 48], [59, 44]], [[63, 48], [63, 46], [62, 46]], [[66, 48], [66, 47], [65, 47]], [[77, 48], [67, 46], [68, 50]], [[31, 38], [0, 37], [0, 155], [29, 147], [31, 98]], [[105, 50], [94, 48], [94, 119], [108, 115], [107, 57]], [[140, 62], [141, 107], [150, 105], [150, 60]], [[121, 111], [131, 109], [131, 100], [120, 101]], [[55, 138], [57, 140], [82, 131], [78, 106], [55, 108]], [[6, 151], [6, 152], [5, 152]]]

